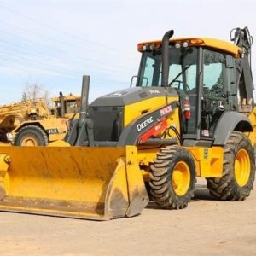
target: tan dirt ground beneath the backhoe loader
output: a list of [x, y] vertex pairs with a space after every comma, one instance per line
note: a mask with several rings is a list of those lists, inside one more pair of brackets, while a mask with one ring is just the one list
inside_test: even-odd
[[215, 201], [200, 180], [186, 209], [105, 222], [0, 212], [0, 241], [0, 255], [256, 255], [256, 189]]

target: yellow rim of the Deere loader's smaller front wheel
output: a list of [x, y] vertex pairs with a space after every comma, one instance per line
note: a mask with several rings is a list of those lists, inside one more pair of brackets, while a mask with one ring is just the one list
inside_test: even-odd
[[190, 170], [189, 166], [180, 161], [174, 167], [172, 172], [172, 187], [176, 195], [182, 196], [188, 192], [190, 185]]

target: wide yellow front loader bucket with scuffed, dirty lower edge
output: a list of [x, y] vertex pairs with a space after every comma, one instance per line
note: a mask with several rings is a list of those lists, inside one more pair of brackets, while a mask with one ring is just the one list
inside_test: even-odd
[[111, 219], [147, 204], [136, 147], [0, 147], [2, 211]]

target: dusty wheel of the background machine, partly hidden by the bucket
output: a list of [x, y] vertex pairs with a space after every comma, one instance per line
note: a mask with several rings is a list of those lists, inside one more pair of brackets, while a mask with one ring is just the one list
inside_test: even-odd
[[48, 137], [37, 125], [27, 125], [15, 136], [15, 146], [46, 146]]

